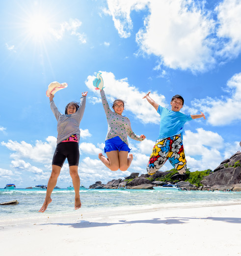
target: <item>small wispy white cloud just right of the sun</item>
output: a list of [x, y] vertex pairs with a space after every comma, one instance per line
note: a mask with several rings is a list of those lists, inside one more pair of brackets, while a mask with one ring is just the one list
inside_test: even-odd
[[63, 22], [60, 24], [60, 29], [50, 29], [50, 32], [57, 40], [61, 40], [65, 32], [70, 32], [71, 35], [76, 35], [80, 43], [86, 43], [86, 35], [84, 33], [77, 32], [82, 25], [82, 22], [78, 19], [70, 19], [69, 22]]

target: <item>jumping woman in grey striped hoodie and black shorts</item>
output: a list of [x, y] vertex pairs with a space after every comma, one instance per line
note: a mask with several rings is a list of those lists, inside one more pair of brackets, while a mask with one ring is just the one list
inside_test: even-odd
[[80, 177], [78, 174], [80, 121], [83, 117], [87, 93], [82, 93], [80, 105], [77, 102], [67, 104], [64, 115], [58, 111], [53, 100], [54, 95], [50, 95], [51, 110], [57, 120], [57, 146], [52, 161], [52, 173], [48, 182], [45, 201], [39, 212], [43, 213], [52, 202], [51, 194], [56, 186], [57, 178], [66, 158], [69, 163], [70, 176], [75, 189], [75, 209], [77, 210], [81, 207]]

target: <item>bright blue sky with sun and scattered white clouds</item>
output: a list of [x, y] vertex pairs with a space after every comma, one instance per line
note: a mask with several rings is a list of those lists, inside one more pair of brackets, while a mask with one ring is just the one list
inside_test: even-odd
[[[56, 120], [45, 95], [53, 81], [68, 83], [54, 101], [66, 104], [88, 91], [80, 123], [81, 184], [146, 173], [159, 134], [159, 115], [142, 97], [164, 107], [180, 94], [181, 112], [207, 120], [185, 125], [191, 171], [214, 169], [240, 150], [241, 2], [239, 0], [2, 0], [0, 1], [0, 188], [47, 185], [56, 146]], [[109, 102], [143, 142], [129, 139], [134, 160], [111, 172], [98, 159], [107, 121], [92, 81], [102, 72]], [[104, 152], [103, 152], [104, 153]], [[169, 170], [166, 162], [161, 170]], [[57, 186], [71, 185], [65, 162]]]

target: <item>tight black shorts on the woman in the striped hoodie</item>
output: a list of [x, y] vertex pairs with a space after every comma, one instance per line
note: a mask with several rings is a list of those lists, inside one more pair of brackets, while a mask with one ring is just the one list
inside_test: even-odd
[[55, 149], [52, 165], [62, 167], [66, 158], [69, 166], [79, 165], [80, 151], [78, 142], [60, 142]]

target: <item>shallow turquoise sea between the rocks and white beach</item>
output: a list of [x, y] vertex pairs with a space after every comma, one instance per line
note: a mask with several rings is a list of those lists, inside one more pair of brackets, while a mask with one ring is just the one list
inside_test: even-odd
[[[0, 205], [0, 221], [33, 218], [39, 215], [65, 215], [74, 213], [72, 190], [55, 189], [52, 203], [45, 213], [39, 213], [45, 199], [46, 190], [0, 189], [0, 203], [18, 200], [18, 205]], [[241, 192], [202, 192], [178, 190], [81, 190], [82, 206], [78, 213], [146, 206], [176, 208], [222, 204], [241, 204]]]

